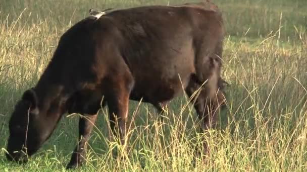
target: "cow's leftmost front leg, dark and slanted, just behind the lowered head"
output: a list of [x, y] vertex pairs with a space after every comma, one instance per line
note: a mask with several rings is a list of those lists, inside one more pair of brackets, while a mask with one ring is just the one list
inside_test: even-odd
[[88, 138], [93, 130], [97, 118], [96, 115], [85, 115], [79, 118], [79, 143], [77, 144], [70, 162], [66, 168], [77, 167], [82, 164], [85, 159]]

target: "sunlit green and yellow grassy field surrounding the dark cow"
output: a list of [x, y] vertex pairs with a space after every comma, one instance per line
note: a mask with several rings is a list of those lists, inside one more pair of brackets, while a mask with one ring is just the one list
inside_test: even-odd
[[[212, 0], [224, 13], [223, 77], [227, 113], [211, 137], [184, 96], [170, 104], [164, 123], [151, 105], [130, 102], [129, 158], [113, 158], [107, 109], [100, 111], [84, 171], [306, 171], [307, 1]], [[64, 117], [52, 137], [23, 165], [4, 156], [8, 120], [21, 94], [38, 80], [60, 36], [90, 8], [170, 5], [183, 0], [0, 0], [0, 171], [63, 171], [77, 144], [78, 115]], [[154, 14], [153, 14], [154, 15]], [[209, 155], [192, 145], [208, 139]], [[204, 161], [204, 162], [203, 162]]]

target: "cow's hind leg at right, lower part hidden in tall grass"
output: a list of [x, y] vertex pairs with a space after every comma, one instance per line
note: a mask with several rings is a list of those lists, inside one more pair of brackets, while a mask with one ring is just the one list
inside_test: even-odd
[[[204, 47], [209, 47], [209, 45], [207, 45], [208, 42], [204, 41], [203, 43], [206, 45]], [[210, 49], [213, 49], [213, 47]], [[191, 77], [190, 85], [187, 88], [188, 94], [191, 95], [191, 92], [198, 89], [197, 84], [201, 84], [199, 82], [207, 81], [194, 105], [198, 117], [203, 120], [202, 129], [204, 130], [208, 130], [212, 128], [212, 125], [215, 125], [217, 120], [216, 114], [221, 109], [220, 107], [225, 104], [225, 96], [223, 94], [225, 81], [220, 76], [223, 43], [222, 41], [218, 42], [214, 49], [214, 53], [208, 56], [206, 55], [206, 50], [206, 48], [201, 48], [199, 50], [196, 59], [204, 60], [204, 62], [201, 63], [199, 61], [196, 63], [196, 75]], [[198, 72], [197, 69], [199, 70]]]

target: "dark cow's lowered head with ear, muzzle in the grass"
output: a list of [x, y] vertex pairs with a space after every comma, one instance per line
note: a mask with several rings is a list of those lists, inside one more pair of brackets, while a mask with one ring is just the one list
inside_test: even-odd
[[16, 104], [9, 122], [7, 158], [26, 161], [25, 155], [30, 156], [35, 153], [55, 125], [54, 121], [47, 122], [45, 111], [42, 112], [38, 108], [38, 99], [34, 90], [27, 90]]

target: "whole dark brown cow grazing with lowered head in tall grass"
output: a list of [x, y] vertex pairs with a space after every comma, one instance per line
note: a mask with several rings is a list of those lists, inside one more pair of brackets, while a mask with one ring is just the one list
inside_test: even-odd
[[199, 88], [194, 108], [208, 129], [225, 104], [224, 32], [221, 12], [209, 2], [114, 10], [81, 20], [62, 35], [38, 83], [17, 102], [7, 158], [26, 161], [22, 151], [34, 154], [63, 114], [79, 113], [87, 119], [79, 119], [79, 143], [67, 167], [79, 166], [101, 107], [108, 105], [111, 129], [117, 120], [124, 141], [129, 99], [162, 111], [183, 91], [191, 97]]

